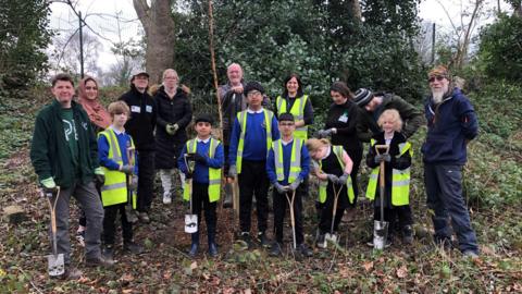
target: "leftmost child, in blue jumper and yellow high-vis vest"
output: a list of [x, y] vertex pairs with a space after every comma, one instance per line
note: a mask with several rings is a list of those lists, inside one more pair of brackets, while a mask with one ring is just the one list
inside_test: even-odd
[[[123, 101], [109, 105], [112, 124], [98, 134], [98, 157], [100, 166], [105, 172], [105, 182], [101, 187], [101, 201], [103, 204], [103, 257], [113, 260], [115, 221], [120, 211], [123, 232], [123, 249], [132, 254], [142, 253], [142, 247], [133, 242], [133, 224], [125, 215], [125, 205], [128, 200], [127, 189], [135, 191], [138, 183], [137, 164], [130, 166], [127, 150], [134, 149], [130, 135], [125, 133], [125, 122], [130, 113], [128, 106]], [[136, 154], [134, 162], [136, 162]], [[133, 181], [127, 180], [133, 175]], [[133, 192], [134, 193], [134, 192]], [[134, 195], [135, 197], [135, 195]], [[133, 201], [134, 205], [135, 201]]]

